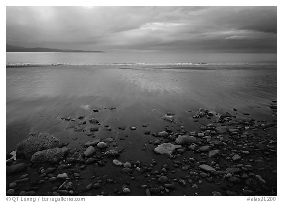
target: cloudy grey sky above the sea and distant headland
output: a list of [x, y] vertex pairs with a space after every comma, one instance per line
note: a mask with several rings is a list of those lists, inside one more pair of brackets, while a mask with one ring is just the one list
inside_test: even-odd
[[106, 52], [276, 53], [276, 7], [7, 7], [7, 44]]

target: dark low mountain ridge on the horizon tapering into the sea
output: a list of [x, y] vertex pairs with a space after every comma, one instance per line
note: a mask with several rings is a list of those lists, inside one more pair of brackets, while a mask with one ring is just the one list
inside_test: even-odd
[[103, 52], [103, 51], [82, 51], [70, 49], [50, 49], [50, 48], [25, 48], [21, 46], [12, 46], [7, 44], [7, 52]]

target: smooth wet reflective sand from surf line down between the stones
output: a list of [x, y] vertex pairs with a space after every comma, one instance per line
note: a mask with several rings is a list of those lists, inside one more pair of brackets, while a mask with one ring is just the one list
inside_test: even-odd
[[[276, 195], [276, 109], [270, 108], [276, 103], [272, 101], [276, 101], [274, 67], [259, 68], [259, 71], [256, 67], [244, 69], [235, 66], [200, 66], [199, 69], [195, 66], [135, 65], [8, 68], [7, 152], [15, 150], [16, 144], [30, 134], [44, 132], [66, 143], [65, 147], [70, 149], [67, 158], [73, 151], [84, 153], [87, 141], [112, 137], [113, 142], [107, 143], [106, 149], [95, 147], [93, 158], [96, 160], [87, 165], [85, 162], [73, 163], [70, 167], [58, 168], [58, 164], [33, 164], [29, 160], [17, 160], [16, 163], [24, 161], [28, 168], [7, 175], [7, 191], [11, 182], [27, 173], [28, 181], [17, 184], [15, 195], [25, 189], [35, 191], [36, 195], [58, 193], [58, 190], [52, 189], [59, 187], [64, 180], [52, 182], [50, 177], [40, 177], [40, 167], [55, 167], [54, 175], [68, 174], [69, 181], [74, 185], [72, 195], [125, 194], [122, 193], [124, 187], [130, 189], [130, 195], [145, 195], [146, 189], [151, 190], [151, 186], [159, 187], [160, 192], [156, 195], [212, 195], [213, 191], [222, 195], [239, 195], [243, 194], [243, 188], [252, 191], [244, 194]], [[111, 110], [111, 107], [115, 109]], [[205, 116], [193, 118], [199, 108], [206, 108], [215, 115], [210, 119]], [[93, 112], [94, 109], [99, 111]], [[161, 118], [169, 111], [175, 114], [172, 123]], [[220, 117], [225, 112], [234, 117]], [[84, 118], [78, 119], [79, 116]], [[241, 123], [238, 117], [255, 120], [248, 124]], [[90, 123], [91, 118], [97, 118], [99, 123]], [[82, 124], [84, 121], [86, 123]], [[210, 131], [225, 125], [227, 128], [239, 127], [238, 134], [231, 134], [228, 130], [225, 134], [212, 133], [212, 139], [207, 141], [191, 133], [199, 133], [202, 126], [211, 123], [214, 127]], [[85, 131], [74, 131], [74, 126], [81, 126]], [[120, 126], [126, 126], [125, 130], [119, 129]], [[98, 131], [90, 132], [93, 127], [98, 127]], [[136, 127], [136, 130], [130, 130], [130, 127]], [[157, 145], [164, 142], [176, 144], [174, 138], [155, 136], [164, 130], [175, 137], [196, 136], [196, 148], [192, 150], [189, 144], [183, 145], [183, 152], [175, 151], [172, 156], [156, 154], [154, 149]], [[182, 130], [184, 134], [180, 134]], [[245, 136], [245, 132], [248, 135]], [[221, 137], [224, 144], [215, 145], [214, 141], [219, 141]], [[262, 144], [258, 145], [262, 148], [255, 147], [257, 144]], [[210, 145], [210, 150], [218, 149], [221, 155], [208, 157], [208, 151], [198, 150], [205, 145]], [[130, 173], [122, 173], [123, 167], [112, 162], [115, 158], [101, 156], [113, 148], [120, 152], [116, 159], [131, 163]], [[242, 154], [242, 151], [249, 151], [249, 154]], [[241, 159], [232, 160], [231, 157], [237, 153]], [[136, 161], [140, 161], [141, 172], [133, 168]], [[208, 175], [201, 175], [200, 164], [218, 167], [220, 173], [213, 175], [206, 172]], [[165, 166], [166, 172], [161, 171], [164, 165], [169, 166]], [[226, 176], [226, 168], [237, 165], [241, 171], [232, 174], [232, 177], [240, 181], [233, 178], [231, 182], [228, 180], [230, 176]], [[74, 173], [80, 176], [76, 178]], [[245, 173], [248, 178], [243, 177]], [[174, 183], [175, 188], [165, 189], [164, 183], [157, 180], [161, 175], [166, 175], [169, 180], [166, 183]], [[260, 175], [266, 183], [255, 175]], [[90, 183], [100, 183], [101, 187], [86, 191]], [[198, 189], [192, 188], [193, 184]], [[154, 190], [151, 190], [153, 195]]]

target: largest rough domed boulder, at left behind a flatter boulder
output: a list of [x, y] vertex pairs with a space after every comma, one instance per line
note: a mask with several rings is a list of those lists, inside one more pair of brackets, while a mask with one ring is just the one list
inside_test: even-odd
[[48, 133], [30, 135], [17, 145], [16, 158], [30, 158], [35, 152], [60, 147], [62, 143]]

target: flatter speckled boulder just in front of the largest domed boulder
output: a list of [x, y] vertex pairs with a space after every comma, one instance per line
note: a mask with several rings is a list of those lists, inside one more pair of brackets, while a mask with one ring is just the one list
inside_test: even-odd
[[67, 152], [68, 149], [65, 147], [37, 151], [35, 154], [32, 155], [31, 161], [34, 163], [40, 163], [40, 162], [56, 163], [62, 160], [67, 154]]

